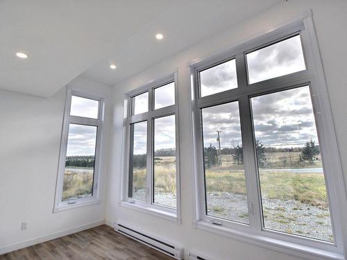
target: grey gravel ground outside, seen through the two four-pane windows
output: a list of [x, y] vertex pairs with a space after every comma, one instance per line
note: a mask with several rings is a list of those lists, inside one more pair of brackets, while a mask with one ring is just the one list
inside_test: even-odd
[[[134, 193], [134, 198], [144, 198], [144, 190]], [[240, 223], [248, 223], [247, 198], [243, 195], [214, 192], [208, 193], [208, 215]], [[299, 236], [332, 241], [332, 226], [328, 209], [321, 209], [297, 200], [263, 201], [264, 225]], [[176, 207], [176, 195], [155, 193], [155, 203]]]

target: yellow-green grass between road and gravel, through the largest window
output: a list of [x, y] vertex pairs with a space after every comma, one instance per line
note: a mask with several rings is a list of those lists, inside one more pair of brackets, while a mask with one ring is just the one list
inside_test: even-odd
[[[323, 174], [260, 171], [262, 198], [298, 200], [312, 206], [328, 207]], [[228, 192], [246, 195], [243, 171], [206, 171], [208, 193]]]

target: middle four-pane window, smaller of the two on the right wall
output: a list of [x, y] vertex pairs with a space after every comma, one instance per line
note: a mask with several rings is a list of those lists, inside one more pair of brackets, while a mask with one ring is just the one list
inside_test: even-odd
[[130, 93], [128, 102], [128, 189], [123, 200], [176, 215], [178, 108], [174, 75]]

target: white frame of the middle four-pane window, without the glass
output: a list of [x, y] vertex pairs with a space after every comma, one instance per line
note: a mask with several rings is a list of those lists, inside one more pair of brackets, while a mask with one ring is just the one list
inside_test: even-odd
[[[161, 107], [154, 110], [154, 89], [174, 83], [175, 86], [175, 104], [167, 107]], [[144, 92], [149, 92], [149, 110], [142, 114], [132, 115], [132, 98]], [[178, 132], [178, 87], [177, 72], [170, 73], [158, 80], [151, 80], [150, 83], [130, 91], [124, 96], [124, 153], [123, 153], [123, 170], [121, 180], [121, 201], [120, 205], [131, 209], [166, 218], [180, 223], [180, 141]], [[153, 202], [153, 121], [154, 119], [164, 116], [175, 115], [176, 123], [176, 209], [164, 205], [154, 204]], [[146, 179], [146, 201], [128, 198], [129, 188], [129, 164], [130, 164], [130, 125], [147, 121], [147, 179]]]

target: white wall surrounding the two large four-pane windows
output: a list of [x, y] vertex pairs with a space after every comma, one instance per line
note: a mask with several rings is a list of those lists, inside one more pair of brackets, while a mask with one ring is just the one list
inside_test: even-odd
[[[108, 223], [128, 223], [150, 234], [155, 234], [168, 241], [183, 245], [189, 250], [201, 252], [214, 259], [298, 259], [272, 250], [257, 247], [241, 241], [203, 232], [192, 227], [193, 191], [192, 191], [192, 137], [189, 128], [189, 74], [187, 63], [196, 58], [203, 58], [221, 50], [228, 49], [246, 40], [260, 35], [269, 28], [312, 9], [316, 34], [319, 40], [323, 68], [325, 71], [328, 94], [332, 105], [335, 130], [341, 155], [341, 162], [347, 178], [347, 2], [346, 1], [283, 1], [278, 6], [251, 17], [224, 33], [215, 35], [205, 42], [192, 46], [183, 53], [178, 53], [159, 64], [142, 71], [112, 89], [114, 103], [112, 148], [110, 175], [108, 180], [108, 203], [106, 221]], [[198, 14], [197, 14], [198, 15]], [[182, 194], [182, 224], [172, 223], [133, 209], [120, 207], [119, 182], [121, 178], [122, 119], [124, 115], [123, 93], [135, 89], [151, 79], [160, 78], [178, 68], [179, 121], [180, 121], [180, 175]], [[345, 183], [347, 184], [347, 183]], [[347, 187], [347, 185], [346, 185]]]

